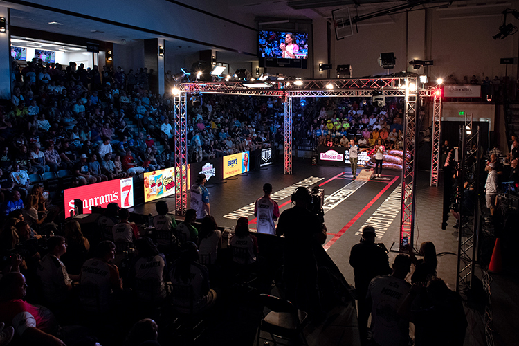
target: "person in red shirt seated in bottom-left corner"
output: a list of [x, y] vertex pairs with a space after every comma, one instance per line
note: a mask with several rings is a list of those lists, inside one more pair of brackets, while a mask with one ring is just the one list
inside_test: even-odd
[[[22, 343], [28, 345], [65, 346], [54, 336], [58, 327], [51, 311], [23, 300], [26, 279], [21, 273], [6, 273], [0, 280], [0, 320], [15, 327]], [[54, 335], [53, 335], [54, 334]]]

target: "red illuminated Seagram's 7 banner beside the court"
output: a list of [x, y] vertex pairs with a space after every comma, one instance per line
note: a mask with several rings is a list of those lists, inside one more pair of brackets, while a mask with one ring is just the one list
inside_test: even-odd
[[92, 207], [100, 206], [107, 208], [109, 203], [115, 202], [121, 208], [134, 206], [134, 179], [116, 179], [84, 185], [78, 188], [63, 191], [66, 215], [74, 210], [74, 200], [83, 201], [83, 213], [91, 214]]

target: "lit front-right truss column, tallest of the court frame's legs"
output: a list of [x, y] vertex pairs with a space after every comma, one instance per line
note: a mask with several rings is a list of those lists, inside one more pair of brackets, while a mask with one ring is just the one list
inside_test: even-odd
[[[409, 78], [409, 84], [417, 85], [417, 78]], [[416, 190], [416, 154], [417, 154], [417, 109], [419, 108], [419, 93], [406, 89], [403, 120], [403, 163], [402, 163], [402, 195], [400, 221], [400, 250], [403, 248], [403, 238], [407, 237], [408, 244], [414, 243], [415, 230], [415, 190]]]

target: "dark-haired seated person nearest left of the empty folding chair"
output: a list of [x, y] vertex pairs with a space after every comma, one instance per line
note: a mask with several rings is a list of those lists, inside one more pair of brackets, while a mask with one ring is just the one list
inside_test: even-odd
[[208, 269], [197, 261], [197, 244], [183, 243], [180, 258], [173, 263], [170, 271], [174, 286], [187, 286], [192, 290], [191, 301], [173, 295], [173, 308], [180, 313], [194, 315], [200, 313], [215, 304], [217, 298], [217, 293], [209, 286]]

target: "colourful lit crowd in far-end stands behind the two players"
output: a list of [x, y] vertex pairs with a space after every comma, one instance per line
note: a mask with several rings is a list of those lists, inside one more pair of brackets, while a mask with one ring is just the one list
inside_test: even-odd
[[403, 103], [386, 98], [378, 107], [365, 99], [326, 99], [311, 132], [317, 145], [349, 147], [349, 140], [363, 148], [373, 148], [382, 140], [386, 149], [402, 149]]

